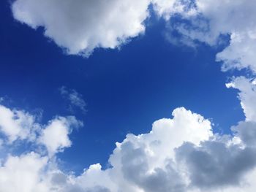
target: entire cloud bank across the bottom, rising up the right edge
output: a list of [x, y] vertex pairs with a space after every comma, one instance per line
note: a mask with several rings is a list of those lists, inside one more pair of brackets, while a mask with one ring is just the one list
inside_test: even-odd
[[[234, 78], [227, 84], [238, 89], [246, 115], [244, 121], [231, 128], [233, 134], [214, 134], [209, 120], [180, 107], [173, 110], [173, 118], [155, 121], [149, 133], [128, 134], [123, 142], [117, 142], [109, 158], [110, 168], [93, 164], [78, 176], [61, 171], [56, 154], [70, 147], [69, 133], [72, 127], [82, 126], [80, 121], [67, 117], [54, 118], [47, 125], [37, 123], [35, 130], [30, 127], [30, 132], [37, 133], [32, 142], [40, 149], [45, 147], [48, 153], [34, 150], [3, 158], [0, 188], [6, 192], [254, 191], [255, 86], [254, 80], [245, 77]], [[1, 107], [5, 110], [0, 116], [5, 111], [15, 112]], [[4, 119], [0, 123], [12, 128]], [[23, 125], [20, 128], [26, 128], [26, 123]], [[9, 137], [5, 129], [1, 128], [1, 134]]]

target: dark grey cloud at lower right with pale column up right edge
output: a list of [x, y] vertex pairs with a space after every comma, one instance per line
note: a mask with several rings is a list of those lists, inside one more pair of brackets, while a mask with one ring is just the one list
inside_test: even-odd
[[216, 135], [200, 146], [184, 143], [176, 149], [176, 159], [189, 173], [192, 187], [206, 191], [252, 191], [256, 185], [249, 181], [250, 175], [256, 173], [255, 82], [236, 77], [227, 83], [227, 88], [239, 90], [246, 120], [231, 127], [233, 136]]

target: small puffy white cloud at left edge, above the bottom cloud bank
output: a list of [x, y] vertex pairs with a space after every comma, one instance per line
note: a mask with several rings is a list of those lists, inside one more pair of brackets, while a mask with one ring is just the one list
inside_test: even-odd
[[13, 145], [15, 141], [31, 142], [55, 154], [71, 145], [68, 135], [72, 128], [80, 126], [83, 123], [74, 116], [53, 118], [45, 126], [37, 122], [36, 115], [0, 105], [0, 133], [6, 145]]

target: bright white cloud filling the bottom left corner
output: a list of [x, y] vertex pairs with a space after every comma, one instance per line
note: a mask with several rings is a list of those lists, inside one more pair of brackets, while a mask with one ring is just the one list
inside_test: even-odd
[[37, 153], [9, 156], [0, 167], [1, 191], [48, 191], [42, 174], [47, 164], [48, 158], [40, 157]]

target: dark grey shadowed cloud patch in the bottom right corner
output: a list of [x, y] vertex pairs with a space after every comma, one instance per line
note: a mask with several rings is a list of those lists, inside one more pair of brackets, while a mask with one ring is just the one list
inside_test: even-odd
[[189, 173], [190, 185], [206, 191], [241, 185], [244, 175], [256, 165], [254, 148], [227, 146], [218, 140], [203, 142], [200, 147], [186, 143], [176, 153], [177, 161]]

